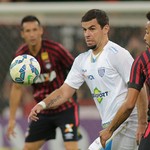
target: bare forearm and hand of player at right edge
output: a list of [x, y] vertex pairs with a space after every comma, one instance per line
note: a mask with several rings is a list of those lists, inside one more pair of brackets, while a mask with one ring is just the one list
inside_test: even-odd
[[126, 101], [122, 104], [110, 125], [100, 131], [100, 142], [103, 147], [105, 147], [106, 141], [112, 136], [113, 132], [130, 116], [136, 105], [138, 95], [138, 90], [132, 88], [128, 89]]

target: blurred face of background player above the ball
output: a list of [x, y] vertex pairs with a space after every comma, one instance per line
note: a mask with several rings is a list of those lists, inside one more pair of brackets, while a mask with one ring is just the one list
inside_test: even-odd
[[43, 29], [37, 21], [23, 23], [21, 35], [29, 46], [38, 45], [41, 42], [42, 34]]

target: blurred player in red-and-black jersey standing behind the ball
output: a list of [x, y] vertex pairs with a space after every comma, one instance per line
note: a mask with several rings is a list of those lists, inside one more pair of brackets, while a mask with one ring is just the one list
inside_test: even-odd
[[[21, 36], [25, 44], [18, 48], [16, 56], [30, 54], [41, 66], [41, 74], [32, 84], [33, 96], [38, 103], [59, 88], [74, 61], [72, 55], [61, 44], [42, 39], [43, 28], [35, 16], [26, 16], [21, 22]], [[13, 83], [10, 94], [10, 118], [7, 136], [15, 136], [16, 111], [21, 101], [22, 85]], [[26, 133], [24, 150], [39, 150], [50, 139], [55, 139], [60, 127], [66, 150], [78, 150], [79, 112], [76, 95], [66, 99], [58, 107], [43, 110], [37, 122], [32, 121]]]

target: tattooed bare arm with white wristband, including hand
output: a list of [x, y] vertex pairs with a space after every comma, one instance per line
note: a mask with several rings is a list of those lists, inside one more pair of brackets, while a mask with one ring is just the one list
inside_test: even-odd
[[37, 121], [38, 120], [37, 114], [41, 110], [57, 107], [63, 104], [73, 96], [75, 91], [76, 90], [74, 88], [64, 83], [59, 89], [56, 89], [54, 92], [48, 95], [44, 100], [42, 100], [37, 105], [35, 105], [31, 110], [28, 119]]

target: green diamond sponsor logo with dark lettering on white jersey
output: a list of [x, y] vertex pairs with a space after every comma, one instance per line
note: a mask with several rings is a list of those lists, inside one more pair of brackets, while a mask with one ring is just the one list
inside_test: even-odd
[[97, 87], [94, 89], [94, 92], [92, 93], [92, 97], [97, 99], [99, 103], [102, 102], [103, 98], [108, 96], [108, 91], [101, 92]]

